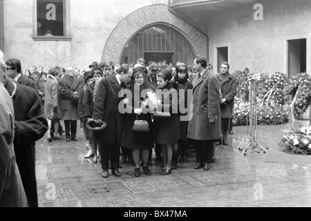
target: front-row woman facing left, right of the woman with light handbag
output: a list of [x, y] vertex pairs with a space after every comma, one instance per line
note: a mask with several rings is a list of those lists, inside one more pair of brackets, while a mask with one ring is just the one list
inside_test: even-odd
[[[156, 75], [158, 99], [162, 102], [162, 113], [169, 111], [169, 117], [156, 117], [154, 115], [154, 127], [156, 132], [156, 144], [161, 146], [164, 169], [162, 175], [171, 174], [171, 160], [173, 146], [177, 144], [179, 137], [178, 94], [171, 84], [172, 75], [167, 69], [160, 69]], [[161, 93], [162, 92], [162, 93]]]

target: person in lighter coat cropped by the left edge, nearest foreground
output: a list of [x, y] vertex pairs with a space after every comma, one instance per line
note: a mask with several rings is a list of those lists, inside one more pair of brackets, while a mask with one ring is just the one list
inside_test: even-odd
[[0, 50], [0, 207], [28, 206], [14, 153], [14, 108], [3, 85], [3, 53]]

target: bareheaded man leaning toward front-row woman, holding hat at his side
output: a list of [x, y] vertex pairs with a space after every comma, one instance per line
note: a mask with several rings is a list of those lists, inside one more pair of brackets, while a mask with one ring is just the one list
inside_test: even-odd
[[97, 124], [102, 121], [107, 126], [100, 135], [100, 157], [102, 160], [102, 177], [108, 177], [109, 152], [111, 159], [111, 173], [117, 177], [121, 173], [117, 170], [119, 164], [120, 141], [122, 134], [122, 116], [118, 111], [119, 102], [122, 98], [118, 97], [119, 91], [125, 88], [124, 84], [131, 81], [133, 69], [128, 64], [122, 64], [120, 73], [109, 77], [104, 77], [98, 84], [95, 95], [93, 119]]

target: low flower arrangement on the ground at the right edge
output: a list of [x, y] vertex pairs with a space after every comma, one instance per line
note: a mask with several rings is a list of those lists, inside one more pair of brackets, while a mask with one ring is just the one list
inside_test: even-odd
[[287, 153], [311, 154], [311, 126], [292, 129], [283, 135], [279, 146]]

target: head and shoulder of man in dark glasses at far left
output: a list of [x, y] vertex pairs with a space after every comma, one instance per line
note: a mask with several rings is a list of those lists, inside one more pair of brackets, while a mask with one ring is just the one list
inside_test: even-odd
[[34, 88], [36, 90], [35, 82], [32, 81], [29, 77], [26, 77], [21, 74], [21, 61], [19, 59], [11, 58], [6, 61], [6, 75], [18, 84], [23, 84]]

